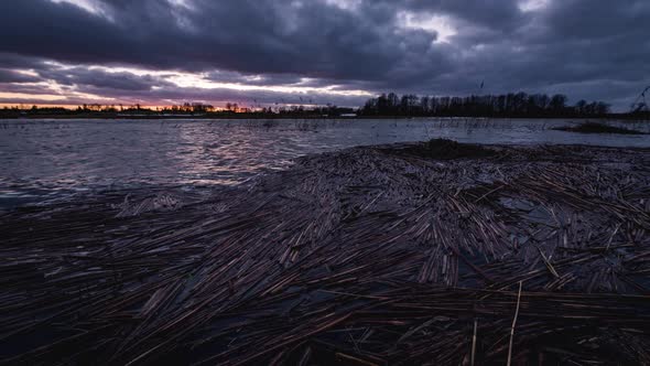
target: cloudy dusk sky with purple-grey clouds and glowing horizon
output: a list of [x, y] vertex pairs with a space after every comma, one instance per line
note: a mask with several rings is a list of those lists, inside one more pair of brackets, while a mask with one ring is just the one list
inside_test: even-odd
[[521, 90], [626, 110], [650, 85], [648, 0], [1, 0], [0, 34], [3, 105]]

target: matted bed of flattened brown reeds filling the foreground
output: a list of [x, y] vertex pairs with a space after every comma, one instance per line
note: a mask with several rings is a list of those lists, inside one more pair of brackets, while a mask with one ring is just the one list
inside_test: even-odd
[[4, 364], [650, 364], [649, 150], [354, 148], [124, 196], [0, 216]]

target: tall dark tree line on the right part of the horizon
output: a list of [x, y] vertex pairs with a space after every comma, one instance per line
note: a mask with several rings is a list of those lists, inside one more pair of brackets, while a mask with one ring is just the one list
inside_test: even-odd
[[599, 117], [609, 114], [603, 101], [579, 100], [567, 105], [563, 94], [509, 93], [468, 97], [432, 97], [394, 93], [370, 98], [360, 109], [364, 116], [431, 117]]

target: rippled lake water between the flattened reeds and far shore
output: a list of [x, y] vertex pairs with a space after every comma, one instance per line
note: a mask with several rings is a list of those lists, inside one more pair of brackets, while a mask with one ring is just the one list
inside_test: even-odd
[[[0, 207], [75, 192], [235, 184], [291, 159], [444, 137], [479, 143], [650, 147], [648, 136], [551, 130], [566, 120], [0, 120]], [[633, 126], [648, 130], [647, 126]]]

